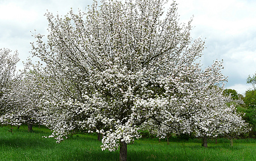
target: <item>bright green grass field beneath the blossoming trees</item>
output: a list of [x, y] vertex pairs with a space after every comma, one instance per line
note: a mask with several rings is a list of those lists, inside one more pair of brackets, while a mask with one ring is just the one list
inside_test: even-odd
[[[51, 132], [46, 128], [27, 126], [13, 129], [0, 128], [0, 160], [118, 160], [119, 151], [101, 151], [96, 135], [73, 135], [60, 144], [53, 138], [42, 138]], [[219, 139], [216, 145], [209, 141], [208, 148], [199, 139], [183, 142], [158, 142], [157, 139], [139, 139], [127, 146], [127, 160], [256, 160], [255, 139]]]

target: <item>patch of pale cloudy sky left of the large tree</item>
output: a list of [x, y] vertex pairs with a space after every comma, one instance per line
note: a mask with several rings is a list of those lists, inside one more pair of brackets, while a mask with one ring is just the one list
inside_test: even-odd
[[30, 55], [30, 43], [35, 41], [31, 36], [36, 33], [47, 35], [47, 10], [53, 15], [66, 15], [73, 8], [82, 11], [92, 4], [92, 0], [0, 0], [0, 48], [18, 50], [22, 61]]

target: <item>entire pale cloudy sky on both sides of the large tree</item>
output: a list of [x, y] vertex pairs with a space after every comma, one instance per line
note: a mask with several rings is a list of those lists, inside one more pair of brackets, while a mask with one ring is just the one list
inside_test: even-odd
[[[0, 0], [0, 48], [18, 50], [22, 61], [31, 56], [35, 33], [47, 35], [44, 14], [66, 15], [72, 8], [85, 11], [92, 0]], [[205, 39], [201, 63], [204, 67], [224, 60], [222, 73], [228, 77], [226, 88], [244, 94], [251, 88], [248, 75], [256, 73], [256, 1], [255, 0], [176, 0], [180, 22], [193, 17], [191, 36]], [[168, 3], [165, 6], [169, 7]]]

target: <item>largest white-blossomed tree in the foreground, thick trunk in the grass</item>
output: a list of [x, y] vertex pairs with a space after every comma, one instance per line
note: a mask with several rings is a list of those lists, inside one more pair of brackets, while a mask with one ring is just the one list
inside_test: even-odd
[[[94, 130], [104, 134], [102, 150], [119, 147], [119, 159], [126, 160], [143, 122], [191, 132], [185, 121], [201, 108], [205, 83], [224, 77], [218, 62], [201, 71], [196, 60], [204, 41], [191, 39], [191, 21], [178, 22], [175, 2], [167, 12], [164, 4], [104, 0], [86, 13], [46, 14], [47, 42], [38, 34], [32, 47], [46, 64], [40, 102], [52, 137]], [[209, 73], [216, 79], [205, 79]]]

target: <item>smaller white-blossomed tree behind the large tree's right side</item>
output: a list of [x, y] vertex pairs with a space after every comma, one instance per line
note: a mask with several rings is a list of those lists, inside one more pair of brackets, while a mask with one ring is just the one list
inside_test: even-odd
[[226, 81], [224, 75], [220, 73], [222, 68], [222, 62], [218, 61], [204, 71], [201, 71], [200, 67], [195, 67], [196, 70], [190, 76], [187, 73], [183, 77], [189, 79], [189, 82], [177, 85], [176, 88], [179, 90], [176, 90], [175, 95], [179, 97], [172, 100], [172, 105], [176, 108], [170, 111], [170, 115], [167, 113], [163, 116], [158, 115], [161, 116], [156, 122], [158, 126], [152, 124], [155, 120], [144, 124], [154, 126], [158, 137], [167, 137], [167, 141], [170, 136], [168, 134], [172, 133], [192, 133], [203, 137], [205, 147], [208, 137], [230, 132], [246, 133], [249, 128], [246, 128], [245, 121], [238, 115], [233, 104], [227, 105], [232, 99], [222, 95]]

